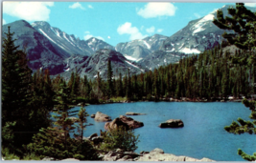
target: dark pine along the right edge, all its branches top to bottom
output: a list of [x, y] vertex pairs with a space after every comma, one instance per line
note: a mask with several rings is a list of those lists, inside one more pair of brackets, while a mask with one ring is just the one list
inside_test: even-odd
[[[217, 11], [217, 19], [214, 19], [213, 23], [223, 30], [235, 31], [234, 33], [223, 33], [223, 37], [227, 39], [229, 44], [235, 45], [239, 49], [249, 51], [248, 57], [232, 57], [232, 62], [240, 65], [251, 65], [254, 66], [256, 62], [255, 48], [256, 48], [256, 13], [251, 10], [247, 10], [243, 3], [237, 3], [236, 9], [229, 8], [228, 13], [232, 17], [223, 18], [222, 10]], [[249, 73], [251, 71], [249, 70]], [[250, 75], [249, 75], [250, 76]], [[250, 83], [250, 77], [249, 77]], [[246, 108], [249, 108], [251, 114], [250, 119], [256, 119], [256, 101], [247, 99], [243, 100], [243, 104]], [[256, 121], [244, 121], [242, 118], [238, 118], [238, 123], [233, 121], [230, 126], [224, 127], [226, 132], [241, 134], [248, 132], [250, 134], [256, 134]], [[238, 150], [238, 154], [241, 155], [245, 160], [255, 161], [256, 153], [249, 155], [244, 153], [241, 149]]]

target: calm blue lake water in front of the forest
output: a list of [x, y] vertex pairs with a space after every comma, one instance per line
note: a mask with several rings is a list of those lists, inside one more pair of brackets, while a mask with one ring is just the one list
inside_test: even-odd
[[[74, 108], [79, 109], [80, 107]], [[198, 159], [207, 157], [217, 161], [244, 161], [237, 154], [239, 148], [249, 154], [256, 152], [255, 134], [235, 135], [223, 129], [238, 117], [249, 120], [250, 111], [242, 103], [136, 102], [90, 105], [86, 107], [86, 111], [89, 114], [104, 112], [112, 119], [125, 115], [126, 112], [147, 113], [130, 116], [144, 123], [144, 127], [134, 130], [135, 134], [140, 134], [138, 149], [135, 151], [137, 153], [160, 148], [165, 153]], [[158, 127], [161, 122], [169, 119], [181, 119], [184, 127]], [[86, 127], [84, 136], [95, 132], [100, 134], [100, 130], [105, 131], [105, 122], [96, 122], [89, 116], [87, 120], [93, 126]]]

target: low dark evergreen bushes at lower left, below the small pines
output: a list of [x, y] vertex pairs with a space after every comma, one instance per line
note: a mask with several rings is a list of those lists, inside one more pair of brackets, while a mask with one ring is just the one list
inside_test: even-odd
[[81, 160], [97, 160], [96, 150], [87, 141], [80, 141], [70, 137], [64, 138], [56, 129], [42, 129], [33, 137], [33, 143], [27, 147], [27, 152], [56, 159], [77, 158]]

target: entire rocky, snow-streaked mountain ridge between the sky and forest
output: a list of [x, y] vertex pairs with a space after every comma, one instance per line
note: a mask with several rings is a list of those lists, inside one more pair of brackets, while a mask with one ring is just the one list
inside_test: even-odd
[[[228, 6], [221, 8], [224, 16], [228, 16], [227, 9]], [[256, 11], [255, 8], [248, 9]], [[49, 69], [52, 75], [63, 72], [63, 76], [67, 76], [77, 67], [78, 70], [83, 71], [81, 75], [88, 74], [94, 78], [96, 71], [101, 71], [105, 78], [107, 69], [105, 62], [108, 59], [114, 61], [116, 53], [118, 60], [113, 63], [113, 67], [117, 67], [115, 71], [127, 73], [130, 68], [131, 73], [134, 74], [153, 71], [160, 66], [177, 63], [188, 54], [198, 54], [215, 47], [223, 39], [221, 36], [223, 31], [212, 23], [216, 14], [217, 12], [214, 11], [190, 21], [186, 27], [170, 37], [154, 34], [144, 39], [119, 43], [116, 47], [94, 37], [86, 41], [80, 40], [73, 34], [67, 34], [43, 21], [36, 21], [31, 25], [24, 20], [15, 21], [4, 25], [3, 33], [8, 31], [8, 26], [11, 26], [11, 31], [15, 31], [13, 38], [17, 39], [15, 44], [19, 45], [20, 49], [26, 49], [30, 59], [29, 67], [34, 71]], [[102, 57], [100, 53], [108, 54]]]

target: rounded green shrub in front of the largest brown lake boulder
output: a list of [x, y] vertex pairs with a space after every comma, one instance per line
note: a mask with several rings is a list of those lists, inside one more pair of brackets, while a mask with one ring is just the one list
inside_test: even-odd
[[121, 149], [125, 152], [133, 152], [138, 148], [139, 135], [134, 135], [133, 130], [117, 128], [105, 132], [103, 137], [104, 142], [101, 144], [100, 149], [104, 152], [109, 152], [115, 149]]

